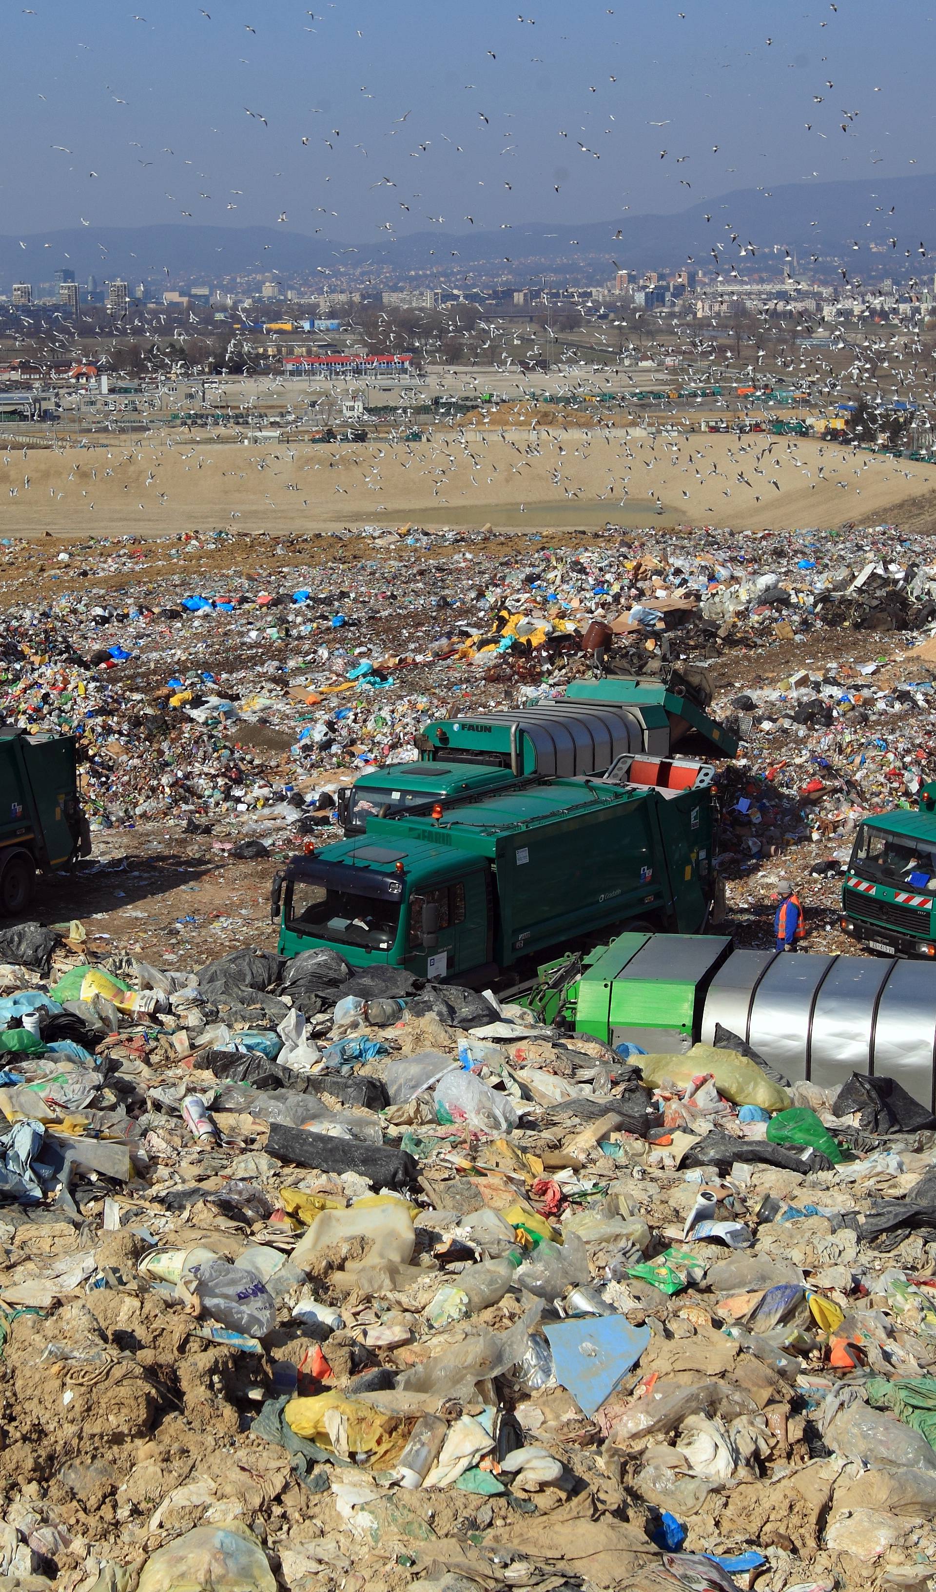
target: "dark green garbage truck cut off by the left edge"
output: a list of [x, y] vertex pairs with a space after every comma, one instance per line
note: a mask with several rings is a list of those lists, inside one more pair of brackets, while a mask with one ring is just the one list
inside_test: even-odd
[[65, 868], [89, 852], [75, 737], [0, 724], [0, 915], [25, 911], [37, 869]]

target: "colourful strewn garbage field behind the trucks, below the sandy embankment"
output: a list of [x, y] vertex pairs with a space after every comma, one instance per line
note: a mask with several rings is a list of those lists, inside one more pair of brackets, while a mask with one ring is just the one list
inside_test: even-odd
[[[180, 560], [202, 546], [162, 540]], [[53, 565], [64, 560], [54, 599], [6, 610], [0, 715], [80, 737], [92, 828], [186, 815], [244, 828], [271, 809], [290, 818], [290, 806], [314, 806], [330, 772], [414, 756], [423, 724], [465, 697], [478, 712], [509, 708], [595, 664], [653, 677], [686, 662], [759, 657], [770, 645], [805, 659], [817, 638], [850, 626], [896, 626], [914, 642], [936, 627], [931, 549], [893, 527], [821, 538], [608, 530], [578, 549], [530, 538], [500, 557], [484, 533], [463, 532], [433, 562], [431, 594], [419, 537], [388, 540], [392, 549], [377, 537], [374, 557], [353, 575], [310, 567], [307, 543], [271, 543], [267, 551], [294, 554], [277, 564], [275, 579], [226, 570], [223, 586], [202, 589], [181, 562], [146, 578], [146, 559], [166, 559], [161, 543], [146, 554], [137, 538], [75, 544]], [[138, 565], [132, 600], [83, 586], [91, 565]], [[879, 702], [876, 681], [844, 659], [839, 672], [791, 673], [786, 689], [743, 693], [740, 732], [770, 742], [791, 721], [817, 759], [828, 759], [821, 742], [833, 731], [836, 755], [874, 763], [877, 731], [895, 728], [893, 702]], [[931, 693], [931, 673], [920, 657], [898, 681], [898, 707], [911, 716], [914, 705], [930, 707], [920, 693]], [[716, 712], [737, 696], [735, 686]]]

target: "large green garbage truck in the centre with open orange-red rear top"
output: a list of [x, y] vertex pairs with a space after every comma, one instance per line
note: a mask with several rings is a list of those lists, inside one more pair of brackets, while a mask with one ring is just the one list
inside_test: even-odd
[[294, 856], [279, 947], [482, 987], [611, 927], [699, 933], [715, 915], [715, 769], [624, 753], [605, 775], [509, 778]]

